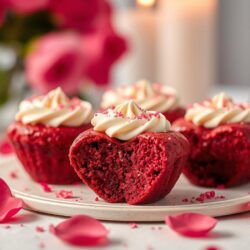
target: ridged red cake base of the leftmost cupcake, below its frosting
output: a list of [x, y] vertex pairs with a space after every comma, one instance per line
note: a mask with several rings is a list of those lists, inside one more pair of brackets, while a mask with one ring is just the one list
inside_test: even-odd
[[79, 180], [70, 166], [68, 152], [73, 140], [91, 125], [57, 128], [11, 124], [8, 137], [26, 172], [36, 182], [71, 184]]

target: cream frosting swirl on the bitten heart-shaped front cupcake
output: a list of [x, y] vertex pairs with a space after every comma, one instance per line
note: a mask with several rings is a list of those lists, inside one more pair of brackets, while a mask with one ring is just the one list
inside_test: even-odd
[[170, 123], [161, 113], [145, 111], [133, 100], [125, 101], [114, 109], [96, 113], [91, 120], [94, 130], [109, 137], [127, 141], [144, 132], [167, 132]]

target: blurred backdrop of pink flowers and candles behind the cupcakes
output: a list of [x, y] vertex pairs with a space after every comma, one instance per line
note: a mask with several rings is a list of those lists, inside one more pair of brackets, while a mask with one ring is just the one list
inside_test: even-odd
[[0, 0], [0, 129], [23, 98], [56, 86], [96, 107], [105, 88], [141, 78], [172, 85], [184, 104], [228, 83], [246, 94], [249, 8], [248, 0]]

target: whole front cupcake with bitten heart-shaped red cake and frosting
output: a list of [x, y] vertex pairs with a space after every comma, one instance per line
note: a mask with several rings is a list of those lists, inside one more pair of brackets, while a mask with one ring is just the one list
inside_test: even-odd
[[180, 176], [189, 144], [164, 115], [134, 101], [96, 113], [93, 129], [70, 148], [82, 181], [108, 202], [144, 204], [166, 196]]

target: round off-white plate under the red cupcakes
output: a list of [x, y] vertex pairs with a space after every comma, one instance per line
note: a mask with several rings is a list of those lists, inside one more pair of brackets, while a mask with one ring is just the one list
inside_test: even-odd
[[[17, 178], [11, 177], [13, 171], [17, 173]], [[131, 206], [107, 203], [101, 199], [96, 201], [96, 194], [82, 184], [50, 185], [53, 192], [46, 193], [40, 184], [29, 178], [14, 156], [1, 159], [0, 177], [10, 185], [16, 197], [23, 199], [27, 209], [53, 215], [87, 214], [110, 221], [163, 221], [166, 215], [175, 213], [199, 212], [210, 216], [223, 216], [250, 210], [250, 183], [227, 190], [214, 190], [215, 197], [201, 203], [196, 198], [213, 189], [193, 186], [181, 177], [172, 192], [161, 201]], [[57, 198], [56, 192], [59, 190], [72, 191], [74, 198]]]

